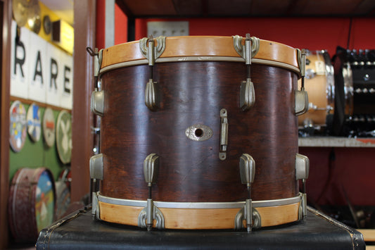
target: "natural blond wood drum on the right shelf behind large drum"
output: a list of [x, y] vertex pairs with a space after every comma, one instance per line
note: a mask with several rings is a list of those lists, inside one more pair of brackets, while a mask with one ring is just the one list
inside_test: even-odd
[[326, 116], [333, 114], [335, 98], [333, 65], [329, 54], [307, 51], [305, 89], [309, 94], [309, 111], [298, 116], [298, 125], [326, 127]]

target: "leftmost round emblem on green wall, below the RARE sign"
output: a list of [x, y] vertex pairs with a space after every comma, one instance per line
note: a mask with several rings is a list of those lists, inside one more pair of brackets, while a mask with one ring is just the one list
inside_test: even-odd
[[26, 140], [26, 109], [20, 101], [14, 101], [9, 111], [11, 148], [19, 152]]

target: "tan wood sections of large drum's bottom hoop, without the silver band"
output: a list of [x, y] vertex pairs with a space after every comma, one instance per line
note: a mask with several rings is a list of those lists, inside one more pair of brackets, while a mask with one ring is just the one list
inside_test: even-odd
[[[138, 225], [138, 215], [143, 207], [120, 206], [99, 202], [101, 220], [110, 223], [125, 225]], [[270, 206], [256, 208], [262, 218], [262, 227], [282, 225], [298, 220], [298, 208], [300, 203], [284, 206]], [[222, 209], [184, 209], [184, 208], [160, 208], [165, 219], [167, 229], [228, 229], [234, 228], [234, 221], [239, 208]], [[154, 220], [154, 227], [156, 221]], [[244, 225], [245, 227], [245, 225]]]

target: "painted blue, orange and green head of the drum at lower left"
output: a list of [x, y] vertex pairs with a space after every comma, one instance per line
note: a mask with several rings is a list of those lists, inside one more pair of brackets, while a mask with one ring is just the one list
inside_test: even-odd
[[39, 177], [35, 200], [35, 217], [38, 232], [53, 223], [54, 212], [55, 194], [53, 182], [49, 172], [44, 171]]

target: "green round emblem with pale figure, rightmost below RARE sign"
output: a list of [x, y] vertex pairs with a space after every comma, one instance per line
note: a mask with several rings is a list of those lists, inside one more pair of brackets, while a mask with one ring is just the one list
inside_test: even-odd
[[61, 111], [56, 123], [56, 146], [62, 163], [70, 163], [72, 157], [72, 119], [70, 113]]

